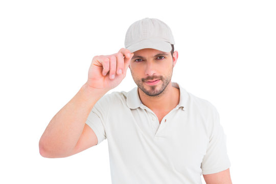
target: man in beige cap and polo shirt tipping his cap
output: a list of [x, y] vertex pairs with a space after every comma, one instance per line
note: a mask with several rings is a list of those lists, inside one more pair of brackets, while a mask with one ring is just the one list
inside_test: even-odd
[[[178, 52], [171, 29], [135, 21], [125, 48], [95, 56], [87, 82], [51, 120], [39, 142], [44, 157], [66, 157], [108, 141], [112, 183], [232, 183], [219, 114], [171, 82]], [[137, 87], [106, 94], [129, 67]]]

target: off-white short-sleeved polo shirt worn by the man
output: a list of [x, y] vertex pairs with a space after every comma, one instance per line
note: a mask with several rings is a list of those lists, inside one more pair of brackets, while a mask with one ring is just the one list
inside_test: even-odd
[[231, 166], [216, 108], [172, 85], [180, 89], [179, 104], [160, 124], [137, 87], [106, 94], [91, 110], [86, 124], [98, 144], [108, 141], [113, 184], [201, 183], [202, 173]]

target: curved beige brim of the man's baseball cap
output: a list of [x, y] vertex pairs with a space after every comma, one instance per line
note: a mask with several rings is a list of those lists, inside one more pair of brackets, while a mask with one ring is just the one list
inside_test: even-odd
[[163, 40], [156, 40], [156, 39], [146, 39], [140, 42], [134, 43], [127, 47], [131, 53], [135, 51], [139, 51], [141, 49], [156, 49], [163, 52], [170, 52], [172, 50], [171, 43], [163, 41]]

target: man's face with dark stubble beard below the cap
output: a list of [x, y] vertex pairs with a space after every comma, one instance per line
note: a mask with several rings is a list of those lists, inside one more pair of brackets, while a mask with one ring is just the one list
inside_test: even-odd
[[[177, 51], [175, 51], [177, 55]], [[137, 86], [148, 96], [162, 94], [171, 81], [177, 57], [170, 52], [142, 49], [134, 52], [129, 68]]]

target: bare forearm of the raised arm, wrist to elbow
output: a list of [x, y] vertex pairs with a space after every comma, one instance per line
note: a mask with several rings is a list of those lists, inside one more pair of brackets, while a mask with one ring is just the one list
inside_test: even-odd
[[70, 154], [79, 140], [89, 112], [104, 94], [84, 84], [50, 121], [39, 141], [40, 154], [45, 157]]

